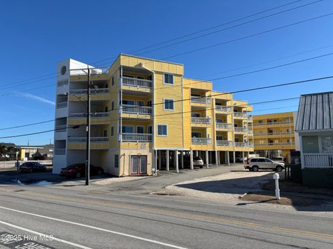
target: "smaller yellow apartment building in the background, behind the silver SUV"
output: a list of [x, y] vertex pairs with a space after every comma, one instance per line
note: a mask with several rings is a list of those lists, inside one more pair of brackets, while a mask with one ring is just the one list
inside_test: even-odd
[[255, 154], [268, 158], [283, 156], [290, 163], [291, 151], [299, 150], [296, 117], [297, 112], [253, 116]]

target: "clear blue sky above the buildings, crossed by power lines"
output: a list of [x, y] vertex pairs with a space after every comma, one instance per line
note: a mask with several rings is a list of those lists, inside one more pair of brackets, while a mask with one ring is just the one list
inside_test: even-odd
[[[63, 59], [71, 57], [82, 62], [96, 62], [293, 1], [3, 1], [0, 8], [0, 129], [54, 118], [56, 80], [53, 75], [56, 73], [57, 62]], [[234, 24], [314, 1], [298, 1]], [[333, 1], [323, 0], [214, 35], [142, 53], [141, 56], [163, 59], [329, 14], [332, 10]], [[332, 24], [333, 15], [330, 15], [169, 60], [185, 64], [186, 77], [202, 80], [260, 70], [332, 53]], [[314, 51], [307, 52], [310, 50]], [[230, 77], [215, 81], [214, 89], [237, 91], [333, 75], [332, 62], [333, 55], [330, 55], [273, 70]], [[111, 63], [112, 59], [109, 59], [103, 66]], [[253, 66], [255, 64], [259, 65]], [[234, 70], [237, 68], [241, 69]], [[46, 76], [40, 77], [42, 75]], [[24, 81], [36, 77], [40, 78]], [[332, 80], [239, 93], [234, 98], [253, 103], [320, 91], [332, 91]], [[294, 111], [297, 105], [298, 100], [256, 104], [253, 115]], [[0, 137], [49, 129], [53, 129], [53, 122], [0, 130]], [[50, 139], [53, 142], [53, 133], [1, 139], [1, 142], [40, 145], [49, 143]]]

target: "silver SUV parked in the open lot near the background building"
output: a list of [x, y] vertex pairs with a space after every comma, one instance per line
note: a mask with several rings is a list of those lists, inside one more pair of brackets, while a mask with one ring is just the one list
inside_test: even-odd
[[249, 158], [244, 167], [254, 172], [257, 172], [259, 169], [273, 169], [274, 171], [280, 172], [284, 169], [284, 163], [274, 162], [268, 158], [256, 157]]

